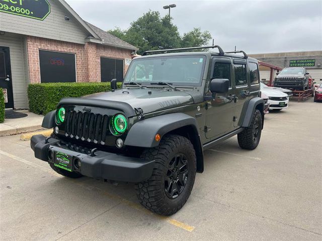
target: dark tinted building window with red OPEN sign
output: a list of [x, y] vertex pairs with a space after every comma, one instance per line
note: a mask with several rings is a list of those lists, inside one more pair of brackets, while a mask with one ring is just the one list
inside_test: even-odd
[[39, 50], [41, 83], [76, 82], [75, 54]]

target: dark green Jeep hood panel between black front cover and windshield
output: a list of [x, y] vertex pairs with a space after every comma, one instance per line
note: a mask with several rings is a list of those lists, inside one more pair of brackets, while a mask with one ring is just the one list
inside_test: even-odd
[[[150, 94], [148, 93], [149, 91], [151, 92]], [[86, 95], [83, 98], [125, 102], [133, 108], [141, 108], [143, 113], [194, 103], [192, 96], [185, 91], [158, 88], [117, 89], [114, 92], [101, 92]]]

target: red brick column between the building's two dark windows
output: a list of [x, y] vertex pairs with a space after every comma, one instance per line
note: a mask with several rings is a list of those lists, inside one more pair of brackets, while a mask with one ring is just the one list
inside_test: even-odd
[[99, 79], [99, 75], [97, 73], [97, 61], [96, 61], [96, 44], [94, 43], [86, 43], [85, 51], [87, 56], [88, 63], [88, 81], [89, 82], [101, 82]]

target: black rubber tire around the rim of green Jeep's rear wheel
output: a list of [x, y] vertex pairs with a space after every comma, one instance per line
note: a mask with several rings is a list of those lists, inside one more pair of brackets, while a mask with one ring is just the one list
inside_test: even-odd
[[[256, 123], [258, 123], [258, 136], [256, 140], [254, 140], [254, 127], [256, 126]], [[262, 114], [258, 109], [255, 109], [250, 127], [246, 128], [246, 130], [237, 135], [239, 147], [243, 149], [254, 150], [258, 146], [261, 139], [262, 125]]]

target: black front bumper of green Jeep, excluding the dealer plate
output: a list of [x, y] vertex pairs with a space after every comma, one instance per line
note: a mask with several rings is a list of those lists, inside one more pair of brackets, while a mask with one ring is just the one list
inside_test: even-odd
[[60, 140], [49, 138], [46, 141], [43, 135], [31, 138], [30, 146], [35, 152], [35, 157], [53, 163], [48, 152], [62, 152], [81, 161], [81, 168], [77, 169], [73, 163], [73, 171], [84, 176], [100, 180], [113, 180], [122, 182], [142, 182], [147, 180], [153, 171], [154, 160], [146, 161], [141, 158], [127, 157], [121, 154], [96, 151], [94, 155], [84, 154], [68, 149]]

